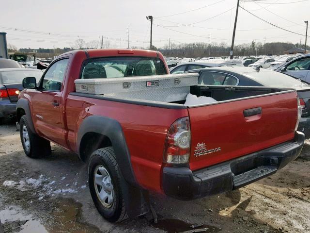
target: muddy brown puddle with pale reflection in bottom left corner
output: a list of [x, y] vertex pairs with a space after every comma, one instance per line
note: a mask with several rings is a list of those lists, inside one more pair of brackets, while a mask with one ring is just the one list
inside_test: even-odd
[[16, 206], [0, 211], [5, 233], [100, 233], [82, 219], [82, 204], [73, 199], [59, 199], [53, 203], [53, 211], [43, 214], [41, 221], [24, 214]]

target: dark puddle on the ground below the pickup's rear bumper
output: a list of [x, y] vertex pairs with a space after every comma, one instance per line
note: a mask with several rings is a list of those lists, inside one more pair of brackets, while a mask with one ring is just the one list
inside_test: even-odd
[[[168, 233], [181, 233], [181, 232], [206, 232], [206, 233], [213, 233], [221, 231], [220, 228], [215, 226], [205, 225], [205, 224], [192, 224], [186, 223], [184, 221], [178, 219], [162, 219], [158, 220], [158, 223], [153, 223], [153, 227], [159, 228], [161, 230], [167, 231]], [[191, 228], [190, 226], [197, 226]], [[198, 229], [207, 229], [205, 231], [197, 231]], [[196, 230], [196, 231], [195, 231]]]

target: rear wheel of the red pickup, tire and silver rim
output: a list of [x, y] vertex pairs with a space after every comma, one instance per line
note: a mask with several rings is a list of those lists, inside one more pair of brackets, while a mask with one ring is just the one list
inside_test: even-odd
[[98, 212], [109, 222], [128, 218], [121, 189], [122, 179], [113, 148], [95, 150], [88, 166], [89, 189]]

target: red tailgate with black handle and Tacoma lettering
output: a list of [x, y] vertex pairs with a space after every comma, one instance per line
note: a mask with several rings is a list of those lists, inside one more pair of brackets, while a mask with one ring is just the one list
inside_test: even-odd
[[191, 170], [197, 170], [293, 139], [296, 92], [190, 107], [188, 113], [189, 163]]

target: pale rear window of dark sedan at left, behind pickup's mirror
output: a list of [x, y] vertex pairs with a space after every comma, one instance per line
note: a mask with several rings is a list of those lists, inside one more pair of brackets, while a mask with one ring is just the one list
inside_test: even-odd
[[34, 77], [39, 81], [42, 77], [43, 72], [41, 70], [12, 70], [0, 72], [1, 83], [21, 83], [26, 77]]

